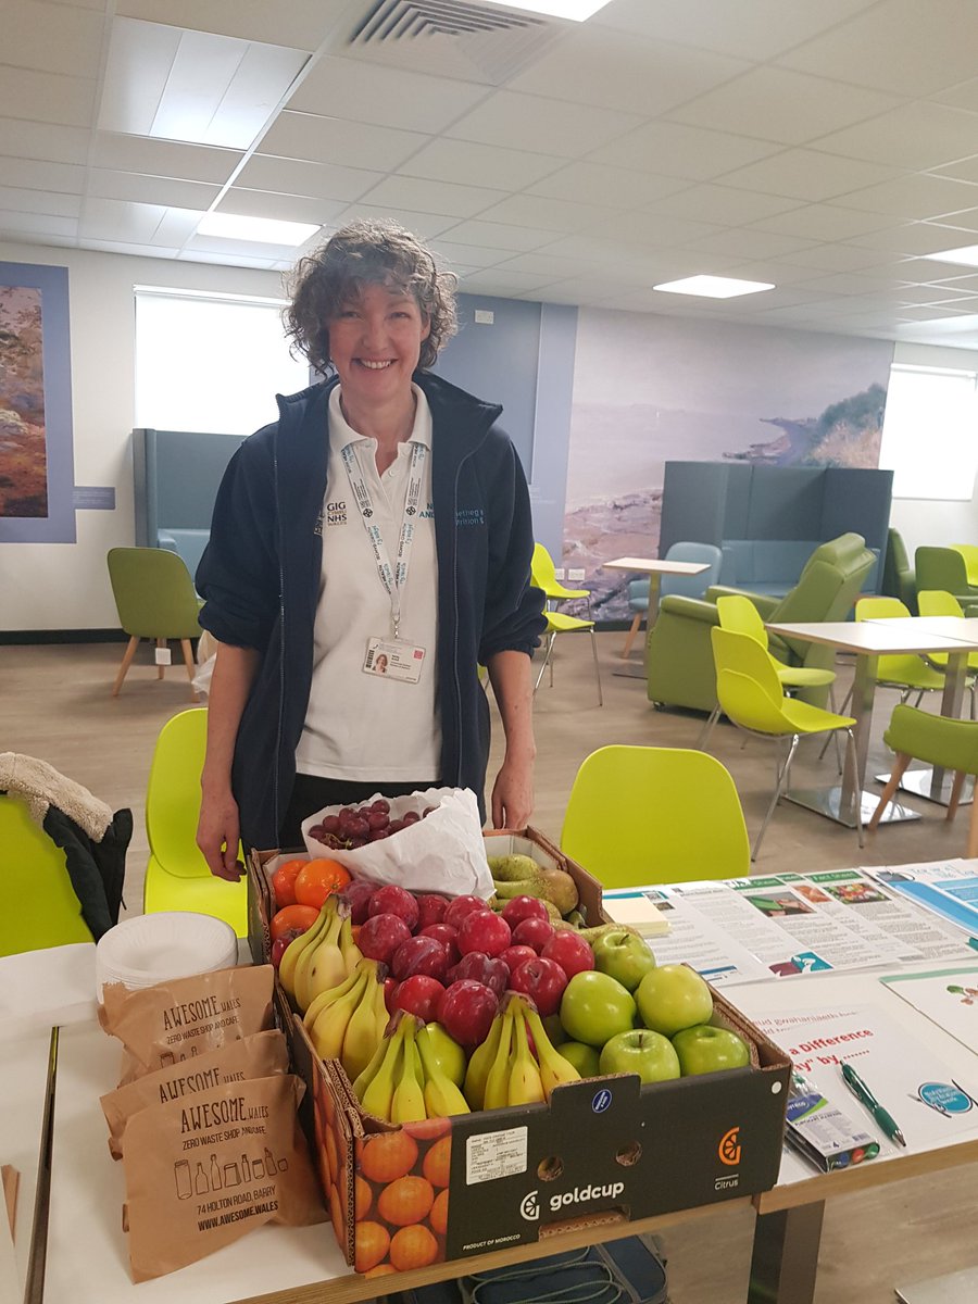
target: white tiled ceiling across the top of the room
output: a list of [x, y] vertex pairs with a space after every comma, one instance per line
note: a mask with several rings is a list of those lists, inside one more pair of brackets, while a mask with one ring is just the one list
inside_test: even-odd
[[[978, 273], [923, 257], [978, 243], [975, 0], [488, 14], [528, 17], [0, 0], [0, 239], [284, 269], [202, 214], [390, 216], [471, 293], [978, 347]], [[776, 288], [652, 288], [698, 273]]]

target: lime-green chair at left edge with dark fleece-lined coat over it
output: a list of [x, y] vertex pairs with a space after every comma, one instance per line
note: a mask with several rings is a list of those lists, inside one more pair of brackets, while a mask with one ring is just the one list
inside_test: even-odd
[[17, 797], [0, 793], [0, 956], [93, 941], [65, 855]]

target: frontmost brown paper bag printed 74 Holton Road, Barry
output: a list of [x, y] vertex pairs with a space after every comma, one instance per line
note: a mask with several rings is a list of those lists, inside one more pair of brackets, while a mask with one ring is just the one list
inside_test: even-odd
[[323, 1222], [293, 1074], [226, 1082], [133, 1114], [123, 1136], [129, 1262], [145, 1282], [254, 1227]]

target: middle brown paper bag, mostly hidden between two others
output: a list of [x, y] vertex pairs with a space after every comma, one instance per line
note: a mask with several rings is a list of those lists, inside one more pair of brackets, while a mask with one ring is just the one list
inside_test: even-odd
[[102, 1112], [108, 1124], [108, 1150], [113, 1159], [123, 1157], [123, 1134], [133, 1114], [156, 1108], [171, 1101], [213, 1091], [226, 1082], [241, 1082], [253, 1077], [273, 1077], [288, 1072], [288, 1043], [276, 1028], [267, 1033], [228, 1042], [193, 1060], [181, 1060], [155, 1073], [143, 1073], [126, 1086], [120, 1086], [102, 1097]]

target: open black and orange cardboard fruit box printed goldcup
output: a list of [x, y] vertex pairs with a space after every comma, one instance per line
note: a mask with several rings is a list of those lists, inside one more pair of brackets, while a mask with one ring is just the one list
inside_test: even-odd
[[[604, 922], [600, 884], [542, 835], [486, 841], [489, 854], [526, 852], [566, 868], [588, 922]], [[256, 853], [249, 866], [256, 958], [267, 955], [267, 876], [276, 863], [279, 853]], [[363, 1111], [339, 1063], [318, 1059], [282, 996], [347, 1261], [379, 1277], [533, 1243], [556, 1224], [645, 1218], [769, 1189], [790, 1061], [720, 992], [713, 1001], [717, 1021], [751, 1047], [748, 1067], [649, 1086], [632, 1074], [588, 1078], [557, 1088], [549, 1103], [396, 1127]]]

